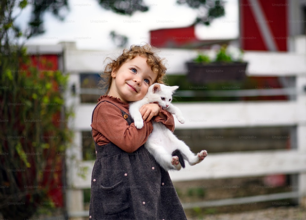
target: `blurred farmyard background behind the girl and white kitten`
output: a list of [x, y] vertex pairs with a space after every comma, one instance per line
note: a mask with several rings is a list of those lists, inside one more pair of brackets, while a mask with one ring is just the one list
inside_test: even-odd
[[[88, 219], [106, 58], [158, 48], [188, 219], [306, 216], [306, 0], [1, 2], [0, 218]], [[257, 211], [257, 212], [256, 212]]]

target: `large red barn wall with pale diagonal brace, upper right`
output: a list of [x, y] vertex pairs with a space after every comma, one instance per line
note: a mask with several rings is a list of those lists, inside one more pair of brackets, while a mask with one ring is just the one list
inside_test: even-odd
[[[255, 2], [255, 3], [254, 3]], [[268, 41], [272, 40], [275, 51], [287, 51], [288, 13], [287, 0], [240, 0], [240, 42], [244, 50], [271, 50]], [[254, 10], [260, 10], [263, 17], [256, 16]], [[260, 26], [266, 26], [271, 33], [269, 39], [264, 36]]]

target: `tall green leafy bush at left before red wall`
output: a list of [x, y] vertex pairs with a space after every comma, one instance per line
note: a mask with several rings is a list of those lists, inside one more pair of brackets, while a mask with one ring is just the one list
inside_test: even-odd
[[67, 86], [68, 76], [39, 71], [23, 48], [5, 49], [9, 54], [0, 64], [0, 212], [4, 218], [24, 219], [41, 202], [50, 204], [48, 192], [61, 183], [62, 152], [72, 132], [59, 88]]

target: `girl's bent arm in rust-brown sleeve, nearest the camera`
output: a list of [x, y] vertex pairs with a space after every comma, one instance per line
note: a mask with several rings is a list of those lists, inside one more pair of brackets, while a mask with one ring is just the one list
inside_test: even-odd
[[151, 121], [145, 122], [142, 129], [137, 129], [134, 123], [129, 125], [120, 109], [108, 102], [101, 103], [95, 109], [91, 127], [96, 142], [103, 135], [128, 153], [142, 146], [153, 130]]

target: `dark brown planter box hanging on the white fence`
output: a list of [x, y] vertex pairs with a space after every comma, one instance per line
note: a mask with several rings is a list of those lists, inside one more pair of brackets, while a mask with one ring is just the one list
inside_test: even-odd
[[187, 78], [190, 82], [241, 81], [245, 78], [247, 62], [193, 63], [188, 62]]

